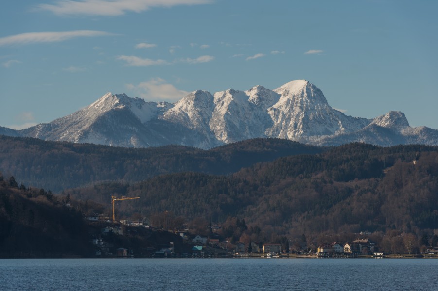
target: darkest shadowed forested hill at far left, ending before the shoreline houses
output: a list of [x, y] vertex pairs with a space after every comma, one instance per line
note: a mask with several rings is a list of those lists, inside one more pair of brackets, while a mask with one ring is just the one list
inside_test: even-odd
[[67, 207], [50, 191], [19, 187], [0, 172], [0, 258], [92, 255], [88, 226], [76, 206]]

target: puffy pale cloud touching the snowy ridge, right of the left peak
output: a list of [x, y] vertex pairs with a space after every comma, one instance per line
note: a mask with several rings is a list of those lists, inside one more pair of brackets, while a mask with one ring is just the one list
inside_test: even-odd
[[179, 90], [161, 78], [152, 78], [149, 81], [141, 82], [138, 85], [126, 84], [126, 87], [139, 94], [140, 97], [150, 101], [175, 102], [190, 92]]

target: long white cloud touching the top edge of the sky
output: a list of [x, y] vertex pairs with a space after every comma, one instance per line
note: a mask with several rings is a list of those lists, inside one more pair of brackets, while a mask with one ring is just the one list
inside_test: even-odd
[[120, 16], [127, 12], [141, 13], [154, 7], [208, 4], [212, 0], [57, 0], [39, 4], [36, 9], [60, 16]]

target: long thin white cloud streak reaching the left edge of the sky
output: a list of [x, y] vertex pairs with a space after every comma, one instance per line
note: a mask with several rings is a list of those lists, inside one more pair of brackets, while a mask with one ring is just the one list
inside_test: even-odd
[[66, 32], [28, 32], [0, 38], [0, 46], [60, 42], [76, 37], [95, 37], [108, 35], [114, 34], [94, 30], [76, 30]]

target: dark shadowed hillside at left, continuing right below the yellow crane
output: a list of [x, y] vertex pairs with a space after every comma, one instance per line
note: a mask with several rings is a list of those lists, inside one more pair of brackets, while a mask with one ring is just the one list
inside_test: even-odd
[[[117, 225], [87, 221], [93, 210], [102, 212], [104, 207], [18, 186], [14, 177], [4, 178], [0, 172], [0, 258], [114, 257], [120, 247], [135, 257], [151, 257], [171, 242], [177, 252], [191, 249], [178, 235], [143, 227], [119, 225], [123, 235], [103, 236], [102, 228]], [[105, 254], [96, 254], [103, 248], [93, 245], [97, 238], [105, 242]]]

